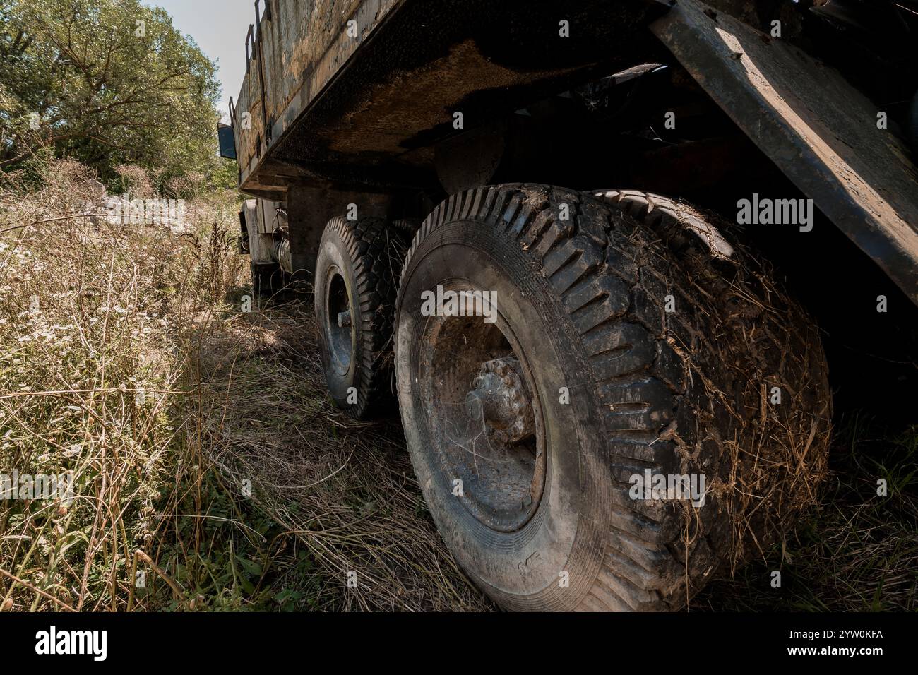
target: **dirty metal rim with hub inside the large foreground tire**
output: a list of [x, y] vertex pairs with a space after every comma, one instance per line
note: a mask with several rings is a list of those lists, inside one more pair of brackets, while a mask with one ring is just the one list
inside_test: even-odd
[[[442, 286], [444, 293], [476, 290], [465, 280]], [[531, 366], [513, 327], [495, 313], [494, 323], [431, 317], [421, 338], [418, 387], [431, 449], [444, 475], [453, 477], [453, 494], [478, 522], [509, 533], [538, 510], [546, 453]]]

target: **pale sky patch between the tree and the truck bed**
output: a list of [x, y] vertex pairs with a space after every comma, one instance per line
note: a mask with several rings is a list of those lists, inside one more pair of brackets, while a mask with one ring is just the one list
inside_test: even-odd
[[194, 38], [201, 51], [217, 62], [217, 78], [223, 87], [218, 110], [223, 121], [229, 122], [229, 96], [239, 96], [245, 74], [245, 33], [255, 22], [254, 1], [144, 0], [143, 4], [169, 12], [173, 26]]

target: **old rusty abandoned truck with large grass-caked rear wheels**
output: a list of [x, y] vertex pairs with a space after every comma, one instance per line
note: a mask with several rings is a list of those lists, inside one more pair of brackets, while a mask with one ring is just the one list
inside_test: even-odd
[[344, 411], [397, 402], [469, 578], [674, 610], [762, 559], [853, 390], [823, 342], [918, 302], [918, 3], [254, 15], [219, 129], [253, 287], [312, 294]]

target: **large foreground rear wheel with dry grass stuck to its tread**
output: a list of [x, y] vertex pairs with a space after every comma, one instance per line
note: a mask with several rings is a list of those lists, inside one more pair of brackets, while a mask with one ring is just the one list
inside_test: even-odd
[[[467, 191], [402, 271], [412, 463], [453, 556], [506, 609], [677, 609], [782, 534], [823, 475], [811, 322], [714, 219], [622, 194]], [[448, 290], [496, 292], [495, 322], [431, 315], [425, 291]], [[703, 475], [705, 500], [635, 499], [645, 471]]]

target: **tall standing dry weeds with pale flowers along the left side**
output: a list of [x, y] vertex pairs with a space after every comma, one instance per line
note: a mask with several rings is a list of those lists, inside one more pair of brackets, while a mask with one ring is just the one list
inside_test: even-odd
[[0, 473], [69, 474], [73, 501], [0, 501], [0, 606], [289, 608], [265, 560], [305, 563], [213, 470], [188, 362], [241, 279], [237, 197], [192, 202], [178, 235], [74, 217], [91, 175], [42, 171], [0, 193]]

